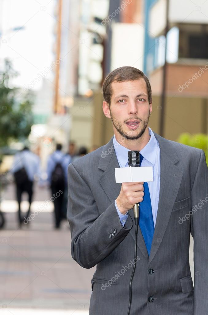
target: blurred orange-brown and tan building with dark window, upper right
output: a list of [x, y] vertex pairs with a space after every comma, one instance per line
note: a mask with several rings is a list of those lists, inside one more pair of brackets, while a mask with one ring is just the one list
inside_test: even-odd
[[145, 1], [144, 72], [150, 78], [153, 93], [150, 124], [159, 132], [167, 26], [164, 136], [171, 140], [183, 132], [208, 131], [206, 12], [207, 2], [198, 6], [189, 0]]

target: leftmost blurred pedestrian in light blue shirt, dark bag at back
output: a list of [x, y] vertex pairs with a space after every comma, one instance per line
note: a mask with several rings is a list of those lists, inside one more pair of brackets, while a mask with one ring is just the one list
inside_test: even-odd
[[[26, 192], [28, 194], [29, 208], [26, 214], [26, 218], [28, 218], [30, 216], [30, 206], [32, 203], [34, 176], [36, 174], [38, 176], [40, 175], [40, 158], [25, 146], [21, 152], [14, 155], [14, 162], [10, 171], [14, 175], [16, 184], [18, 221], [19, 226], [21, 226], [24, 221], [23, 219], [25, 219], [21, 216], [20, 208], [22, 193]], [[25, 220], [25, 223], [29, 222], [30, 221]]]

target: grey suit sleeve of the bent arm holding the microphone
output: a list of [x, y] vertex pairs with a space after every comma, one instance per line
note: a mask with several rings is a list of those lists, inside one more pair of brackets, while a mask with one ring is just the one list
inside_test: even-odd
[[129, 218], [124, 228], [114, 202], [100, 215], [89, 185], [72, 163], [68, 166], [68, 196], [71, 254], [80, 266], [91, 268], [123, 241], [133, 221]]

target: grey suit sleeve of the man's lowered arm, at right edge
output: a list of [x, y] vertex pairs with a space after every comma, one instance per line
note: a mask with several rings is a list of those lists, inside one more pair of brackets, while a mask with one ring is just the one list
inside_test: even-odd
[[[196, 168], [195, 168], [196, 169]], [[208, 168], [201, 150], [198, 168], [191, 189], [194, 238], [194, 315], [208, 310]]]

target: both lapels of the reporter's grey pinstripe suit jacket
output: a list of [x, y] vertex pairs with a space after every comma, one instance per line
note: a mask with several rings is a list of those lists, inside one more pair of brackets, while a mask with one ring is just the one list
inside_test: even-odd
[[[175, 165], [179, 159], [174, 150], [174, 146], [171, 142], [160, 137], [156, 133], [154, 133], [154, 135], [160, 146], [161, 175], [159, 204], [150, 257], [148, 255], [140, 227], [138, 228], [137, 242], [140, 251], [149, 263], [154, 258], [162, 242], [183, 176], [182, 171]], [[102, 152], [104, 152], [104, 154], [102, 153], [103, 156], [100, 158], [98, 167], [102, 169], [104, 173], [100, 177], [100, 184], [109, 200], [113, 203], [121, 190], [121, 184], [115, 183], [114, 169], [118, 168], [119, 164], [113, 147], [113, 138], [111, 138], [107, 145], [103, 147]], [[127, 220], [130, 220], [131, 218], [134, 222], [133, 209], [130, 209], [128, 214], [129, 217]], [[129, 233], [135, 241], [135, 224]]]

